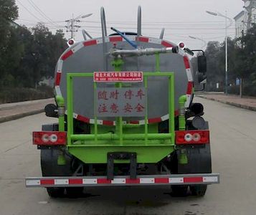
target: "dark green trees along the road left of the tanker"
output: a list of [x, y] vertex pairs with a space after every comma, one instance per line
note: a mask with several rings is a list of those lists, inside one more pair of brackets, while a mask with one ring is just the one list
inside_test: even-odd
[[43, 24], [32, 29], [19, 26], [14, 0], [0, 0], [0, 90], [37, 87], [44, 77], [54, 76], [60, 54], [67, 48], [62, 30], [55, 34]]

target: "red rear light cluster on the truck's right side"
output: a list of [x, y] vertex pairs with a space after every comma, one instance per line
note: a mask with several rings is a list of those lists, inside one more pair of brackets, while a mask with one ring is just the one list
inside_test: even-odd
[[209, 143], [209, 130], [177, 130], [176, 144], [205, 144]]

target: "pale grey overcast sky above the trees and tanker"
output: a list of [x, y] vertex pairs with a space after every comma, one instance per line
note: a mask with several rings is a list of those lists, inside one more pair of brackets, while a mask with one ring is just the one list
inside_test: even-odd
[[[32, 27], [37, 22], [44, 22], [49, 29], [65, 29], [65, 20], [72, 14], [90, 14], [81, 19], [80, 29], [86, 29], [93, 37], [100, 37], [100, 7], [104, 6], [107, 19], [108, 34], [110, 27], [120, 31], [136, 32], [138, 5], [142, 7], [142, 34], [159, 37], [161, 28], [165, 27], [165, 39], [172, 42], [185, 42], [191, 49], [201, 48], [204, 42], [191, 39], [198, 37], [205, 41], [223, 41], [225, 36], [225, 19], [212, 16], [205, 11], [215, 11], [234, 18], [243, 10], [242, 0], [16, 0], [19, 6], [17, 23]], [[39, 9], [43, 13], [39, 13]], [[45, 15], [47, 18], [45, 18]], [[65, 34], [70, 37], [70, 34]], [[234, 23], [228, 29], [228, 35], [234, 37]], [[75, 34], [75, 39], [81, 40], [81, 31]]]

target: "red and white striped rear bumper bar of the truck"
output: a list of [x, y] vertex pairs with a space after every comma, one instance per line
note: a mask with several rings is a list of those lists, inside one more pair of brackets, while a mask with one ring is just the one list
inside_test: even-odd
[[41, 177], [26, 178], [27, 187], [74, 187], [74, 186], [142, 186], [142, 185], [189, 185], [219, 183], [218, 173], [148, 175], [131, 180], [129, 176], [115, 176], [108, 180], [105, 176], [85, 177]]

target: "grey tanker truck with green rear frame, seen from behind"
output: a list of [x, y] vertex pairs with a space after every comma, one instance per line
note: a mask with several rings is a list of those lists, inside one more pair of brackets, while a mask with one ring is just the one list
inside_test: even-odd
[[56, 105], [46, 114], [58, 122], [33, 133], [42, 177], [26, 186], [52, 197], [143, 185], [204, 196], [219, 174], [184, 44], [115, 31], [72, 45], [57, 62]]

